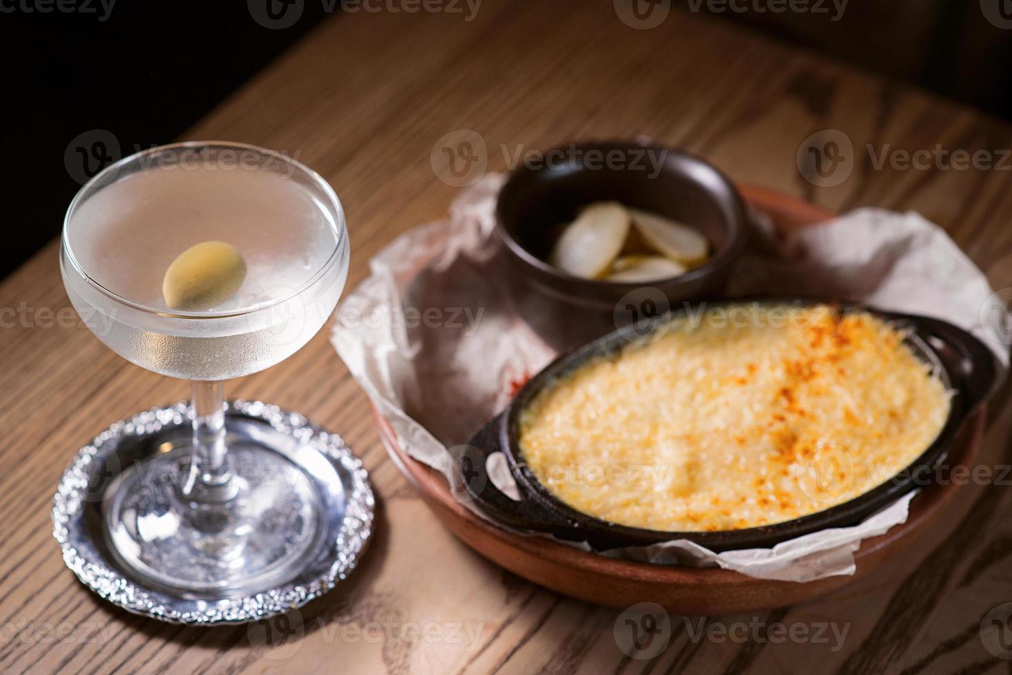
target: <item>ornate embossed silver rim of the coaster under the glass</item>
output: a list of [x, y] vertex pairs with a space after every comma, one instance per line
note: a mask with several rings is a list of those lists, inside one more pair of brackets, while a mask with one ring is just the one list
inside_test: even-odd
[[354, 570], [372, 533], [375, 506], [361, 459], [339, 435], [312, 424], [299, 413], [260, 401], [242, 400], [229, 402], [226, 414], [230, 412], [266, 422], [275, 430], [311, 445], [346, 476], [350, 489], [346, 493], [344, 518], [330, 546], [334, 552], [333, 564], [315, 578], [297, 580], [300, 583], [282, 584], [247, 597], [201, 601], [142, 586], [120, 574], [109, 564], [109, 559], [92, 545], [84, 519], [89, 503], [87, 491], [97, 466], [96, 456], [107, 454], [109, 447], [114, 452], [122, 437], [153, 434], [164, 427], [185, 423], [191, 419], [191, 413], [183, 401], [173, 406], [151, 408], [129, 420], [115, 422], [78, 450], [64, 473], [53, 498], [53, 536], [60, 543], [67, 567], [85, 586], [135, 614], [170, 623], [210, 626], [247, 623], [301, 607], [333, 589]]

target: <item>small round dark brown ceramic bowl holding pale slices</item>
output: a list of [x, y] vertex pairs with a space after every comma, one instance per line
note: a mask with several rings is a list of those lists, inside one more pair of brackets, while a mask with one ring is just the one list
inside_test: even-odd
[[[578, 144], [554, 152], [574, 159], [517, 169], [496, 204], [496, 231], [513, 270], [530, 286], [609, 316], [620, 300], [643, 286], [657, 288], [668, 307], [723, 292], [748, 234], [741, 195], [724, 174], [685, 153], [635, 142]], [[581, 206], [609, 200], [695, 228], [709, 241], [710, 258], [685, 274], [646, 283], [587, 279], [545, 262], [561, 224], [571, 222]]]

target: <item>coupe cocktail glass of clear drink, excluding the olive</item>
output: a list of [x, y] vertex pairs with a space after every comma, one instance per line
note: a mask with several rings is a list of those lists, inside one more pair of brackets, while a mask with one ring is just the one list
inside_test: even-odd
[[[162, 276], [204, 241], [238, 249], [245, 279], [220, 306], [173, 310]], [[103, 487], [112, 555], [146, 585], [194, 597], [290, 579], [320, 546], [319, 484], [290, 460], [294, 445], [228, 433], [223, 381], [283, 360], [333, 312], [348, 271], [337, 195], [268, 150], [218, 142], [154, 148], [81, 189], [64, 222], [60, 261], [71, 303], [106, 345], [192, 383], [192, 435], [163, 442]]]

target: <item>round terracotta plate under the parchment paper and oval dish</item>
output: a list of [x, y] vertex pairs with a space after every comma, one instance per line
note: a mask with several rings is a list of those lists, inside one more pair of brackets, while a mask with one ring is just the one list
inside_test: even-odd
[[[832, 214], [813, 204], [763, 188], [743, 186], [742, 195], [768, 214], [781, 229], [804, 227]], [[679, 614], [726, 614], [794, 604], [871, 576], [887, 561], [907, 550], [959, 489], [956, 482], [924, 488], [911, 503], [907, 522], [881, 536], [865, 539], [855, 554], [853, 576], [809, 583], [753, 579], [721, 569], [692, 569], [615, 561], [578, 551], [540, 536], [500, 529], [458, 504], [445, 480], [412, 459], [400, 447], [390, 424], [380, 417], [380, 430], [391, 457], [422, 498], [460, 540], [497, 565], [560, 593], [613, 607], [657, 602]], [[984, 413], [971, 418], [946, 463], [969, 465], [980, 446]]]

